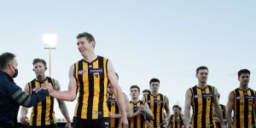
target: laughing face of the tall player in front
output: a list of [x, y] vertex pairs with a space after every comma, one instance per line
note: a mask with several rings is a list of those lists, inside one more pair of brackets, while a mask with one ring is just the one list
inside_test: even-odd
[[89, 41], [87, 38], [78, 38], [78, 47], [81, 55], [86, 55], [88, 52], [91, 52], [94, 49], [92, 44], [93, 41]]

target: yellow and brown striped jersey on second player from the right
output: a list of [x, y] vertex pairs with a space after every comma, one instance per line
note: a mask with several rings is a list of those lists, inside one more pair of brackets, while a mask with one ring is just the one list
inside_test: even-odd
[[193, 108], [192, 127], [216, 127], [213, 119], [212, 104], [216, 98], [214, 87], [207, 85], [206, 88], [198, 88], [197, 85], [190, 88], [192, 92], [191, 106]]

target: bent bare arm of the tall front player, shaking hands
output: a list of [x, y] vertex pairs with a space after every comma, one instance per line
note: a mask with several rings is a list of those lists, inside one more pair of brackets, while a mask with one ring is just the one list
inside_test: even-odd
[[57, 91], [52, 88], [51, 84], [42, 84], [42, 88], [47, 89], [49, 91], [49, 95], [53, 96], [61, 101], [74, 101], [76, 99], [76, 91], [77, 91], [77, 81], [73, 76], [74, 66], [71, 66], [69, 69], [69, 84], [68, 90], [65, 91]]

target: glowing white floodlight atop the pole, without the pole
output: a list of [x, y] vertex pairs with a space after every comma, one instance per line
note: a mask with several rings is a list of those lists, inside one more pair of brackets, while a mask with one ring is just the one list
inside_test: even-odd
[[43, 42], [46, 48], [55, 48], [57, 44], [56, 34], [43, 34]]

